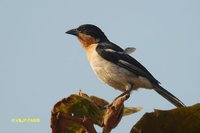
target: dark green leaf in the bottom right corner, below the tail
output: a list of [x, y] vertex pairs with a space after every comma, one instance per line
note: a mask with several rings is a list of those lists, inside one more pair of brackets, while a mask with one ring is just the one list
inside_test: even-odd
[[200, 104], [146, 113], [131, 133], [200, 133]]

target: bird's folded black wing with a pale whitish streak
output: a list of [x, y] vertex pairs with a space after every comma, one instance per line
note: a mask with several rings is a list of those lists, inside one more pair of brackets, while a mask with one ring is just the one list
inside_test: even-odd
[[156, 80], [152, 74], [136, 59], [126, 54], [122, 48], [115, 45], [111, 42], [100, 43], [96, 48], [98, 54], [104, 59], [123, 67], [130, 72], [146, 77], [149, 79], [154, 85], [159, 84], [159, 81]]

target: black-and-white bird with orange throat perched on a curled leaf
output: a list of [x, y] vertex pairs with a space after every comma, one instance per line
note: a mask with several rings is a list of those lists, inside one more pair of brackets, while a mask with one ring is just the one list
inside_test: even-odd
[[78, 38], [94, 73], [109, 86], [122, 92], [139, 88], [153, 89], [176, 107], [186, 106], [164, 89], [160, 82], [130, 55], [135, 48], [121, 48], [111, 42], [104, 32], [93, 24], [83, 24], [65, 33]]

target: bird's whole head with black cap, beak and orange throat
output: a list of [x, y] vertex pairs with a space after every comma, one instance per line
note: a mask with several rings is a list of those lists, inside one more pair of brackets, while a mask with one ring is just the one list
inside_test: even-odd
[[77, 36], [83, 47], [109, 41], [100, 28], [91, 24], [81, 25], [78, 28], [67, 31], [66, 34]]

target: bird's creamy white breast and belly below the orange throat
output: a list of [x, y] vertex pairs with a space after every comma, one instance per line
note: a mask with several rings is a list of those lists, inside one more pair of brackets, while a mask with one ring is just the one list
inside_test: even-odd
[[128, 70], [103, 59], [96, 52], [96, 46], [97, 44], [89, 46], [87, 56], [93, 71], [103, 82], [121, 91], [130, 89], [128, 87], [131, 85], [134, 85], [135, 89], [146, 87], [144, 78], [137, 77]]

